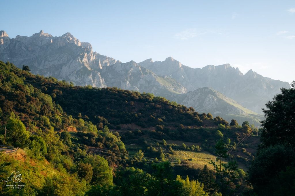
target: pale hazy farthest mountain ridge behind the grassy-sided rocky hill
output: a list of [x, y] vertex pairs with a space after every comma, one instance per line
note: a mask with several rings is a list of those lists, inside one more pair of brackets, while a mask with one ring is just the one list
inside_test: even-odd
[[193, 69], [168, 57], [162, 62], [147, 59], [139, 65], [150, 69], [155, 74], [175, 79], [188, 91], [211, 87], [260, 114], [261, 108], [280, 92], [280, 88], [290, 88], [288, 82], [266, 78], [252, 70], [244, 75], [230, 64], [208, 65], [202, 69]]

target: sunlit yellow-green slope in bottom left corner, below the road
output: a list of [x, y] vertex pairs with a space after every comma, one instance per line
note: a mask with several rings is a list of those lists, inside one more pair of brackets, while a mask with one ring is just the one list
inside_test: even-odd
[[[0, 177], [7, 179], [12, 171], [22, 174], [19, 183], [0, 184], [1, 195], [84, 195], [86, 182], [79, 182], [75, 175], [63, 173], [46, 160], [30, 158], [26, 151], [19, 149], [11, 154], [0, 154]], [[25, 185], [21, 189], [7, 188], [6, 185]]]

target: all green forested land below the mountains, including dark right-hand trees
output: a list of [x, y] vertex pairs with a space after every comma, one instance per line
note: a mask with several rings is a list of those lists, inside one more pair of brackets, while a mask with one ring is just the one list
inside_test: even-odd
[[[18, 148], [0, 155], [1, 195], [264, 195], [294, 173], [294, 88], [267, 103], [256, 130], [150, 93], [29, 71], [0, 62], [0, 142]], [[289, 158], [272, 162], [275, 152]], [[21, 182], [7, 180], [13, 171]]]

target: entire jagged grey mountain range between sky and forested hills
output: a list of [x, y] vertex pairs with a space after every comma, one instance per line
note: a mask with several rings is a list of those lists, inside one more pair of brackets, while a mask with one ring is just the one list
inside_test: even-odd
[[93, 52], [90, 43], [80, 42], [70, 33], [53, 37], [40, 31], [30, 37], [11, 39], [0, 31], [0, 60], [18, 67], [28, 65], [34, 74], [76, 85], [151, 92], [193, 106], [198, 112], [220, 116], [256, 116], [281, 87], [290, 88], [287, 82], [263, 77], [252, 70], [242, 74], [230, 64], [194, 69], [172, 57], [163, 62], [147, 59], [122, 63]]

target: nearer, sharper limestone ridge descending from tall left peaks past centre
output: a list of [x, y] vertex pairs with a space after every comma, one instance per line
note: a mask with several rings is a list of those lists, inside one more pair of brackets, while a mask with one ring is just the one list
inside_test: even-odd
[[80, 42], [70, 33], [53, 37], [40, 31], [30, 37], [18, 35], [10, 39], [0, 31], [0, 60], [18, 67], [28, 65], [34, 74], [80, 86], [118, 87], [158, 95], [186, 93], [186, 88], [175, 80], [159, 77], [133, 61], [121, 63], [93, 52], [91, 44]]

